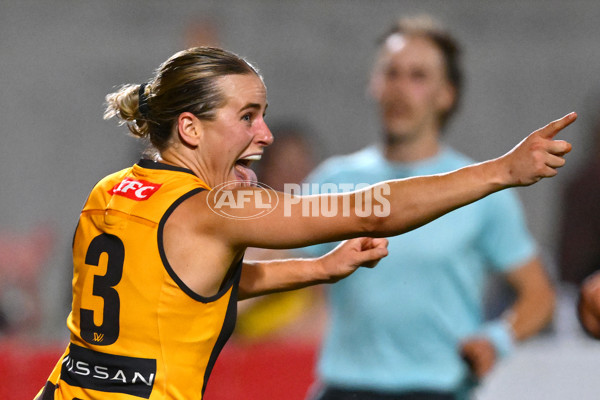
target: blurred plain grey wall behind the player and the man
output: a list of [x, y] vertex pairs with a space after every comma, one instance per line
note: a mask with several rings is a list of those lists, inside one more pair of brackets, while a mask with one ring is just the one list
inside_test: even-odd
[[[466, 91], [448, 141], [475, 159], [509, 150], [576, 110], [558, 178], [520, 189], [551, 261], [561, 184], [586, 156], [600, 109], [600, 2], [592, 0], [0, 1], [0, 232], [54, 230], [42, 270], [44, 338], [64, 337], [70, 241], [92, 185], [138, 158], [139, 145], [103, 121], [104, 95], [147, 80], [210, 19], [223, 47], [253, 61], [269, 89], [268, 120], [301, 117], [321, 156], [376, 140], [365, 96], [374, 41], [397, 17], [428, 12], [464, 46]], [[598, 345], [600, 346], [600, 345]], [[581, 398], [581, 397], [580, 397]]]

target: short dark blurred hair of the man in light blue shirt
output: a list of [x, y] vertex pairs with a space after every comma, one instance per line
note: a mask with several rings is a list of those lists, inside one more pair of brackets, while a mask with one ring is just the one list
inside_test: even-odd
[[444, 126], [458, 109], [463, 88], [462, 50], [458, 41], [439, 21], [429, 15], [400, 18], [378, 39], [378, 46], [382, 47], [387, 39], [393, 35], [424, 37], [431, 40], [442, 52], [446, 66], [446, 77], [456, 92], [454, 104], [442, 115], [441, 124]]

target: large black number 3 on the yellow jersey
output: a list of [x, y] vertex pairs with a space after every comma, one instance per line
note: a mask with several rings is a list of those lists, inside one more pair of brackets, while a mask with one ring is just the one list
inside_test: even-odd
[[102, 324], [100, 326], [95, 324], [94, 310], [84, 308], [80, 310], [81, 337], [86, 342], [97, 346], [113, 344], [119, 337], [121, 301], [114, 287], [123, 276], [125, 246], [118, 237], [103, 233], [90, 243], [85, 255], [85, 263], [98, 266], [103, 253], [108, 256], [106, 274], [94, 276], [92, 289], [94, 296], [102, 297], [104, 300]]

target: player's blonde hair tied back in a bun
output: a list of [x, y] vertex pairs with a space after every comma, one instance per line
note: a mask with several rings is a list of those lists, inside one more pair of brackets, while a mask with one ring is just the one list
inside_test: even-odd
[[255, 67], [234, 53], [216, 47], [183, 50], [162, 63], [147, 84], [126, 84], [108, 94], [104, 119], [119, 118], [132, 135], [149, 140], [161, 151], [168, 146], [181, 113], [214, 119], [225, 103], [218, 78], [242, 74], [260, 77]]

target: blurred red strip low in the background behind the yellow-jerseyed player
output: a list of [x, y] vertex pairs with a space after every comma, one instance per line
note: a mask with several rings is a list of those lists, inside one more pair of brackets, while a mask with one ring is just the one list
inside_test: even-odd
[[[0, 399], [33, 399], [66, 343], [44, 346], [0, 341]], [[205, 400], [303, 400], [313, 379], [317, 345], [290, 340], [229, 343], [219, 357]]]

